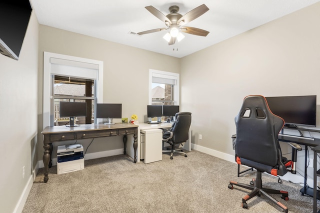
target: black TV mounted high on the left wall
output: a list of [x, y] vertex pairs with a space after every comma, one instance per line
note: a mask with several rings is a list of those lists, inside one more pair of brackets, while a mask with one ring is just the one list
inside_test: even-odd
[[32, 8], [29, 0], [0, 1], [0, 53], [18, 59]]

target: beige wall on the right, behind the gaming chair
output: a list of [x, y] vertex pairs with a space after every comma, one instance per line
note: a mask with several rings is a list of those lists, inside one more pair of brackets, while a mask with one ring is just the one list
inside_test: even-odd
[[248, 94], [315, 94], [319, 104], [319, 26], [316, 3], [182, 58], [180, 104], [192, 112], [192, 142], [233, 155], [234, 116]]

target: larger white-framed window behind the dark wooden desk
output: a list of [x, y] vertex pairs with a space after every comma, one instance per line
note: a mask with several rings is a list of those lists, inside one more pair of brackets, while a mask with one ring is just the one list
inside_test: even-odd
[[[81, 121], [85, 123], [97, 123], [94, 116], [95, 103], [103, 102], [103, 61], [75, 57], [70, 55], [57, 54], [52, 52], [43, 53], [43, 128], [52, 126], [57, 116], [56, 104], [59, 101], [85, 101], [91, 105], [92, 116]], [[66, 83], [69, 81], [69, 83]], [[59, 93], [54, 88], [55, 83], [66, 83], [65, 86], [71, 87], [74, 84], [82, 85], [81, 95], [72, 93]], [[87, 89], [91, 89], [87, 91]], [[92, 96], [93, 94], [93, 96]], [[72, 95], [72, 96], [70, 96]], [[87, 112], [87, 114], [89, 114]], [[81, 118], [82, 119], [82, 118]]]

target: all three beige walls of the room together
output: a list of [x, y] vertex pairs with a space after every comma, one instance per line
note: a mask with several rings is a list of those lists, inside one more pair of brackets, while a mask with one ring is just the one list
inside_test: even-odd
[[[43, 51], [102, 60], [104, 102], [121, 102], [123, 116], [136, 113], [139, 120], [148, 104], [148, 70], [180, 73], [180, 106], [192, 112], [192, 142], [233, 155], [233, 118], [245, 95], [320, 97], [319, 11], [316, 3], [181, 59], [38, 25], [32, 14], [20, 59], [0, 55], [1, 210], [14, 210], [42, 159]], [[91, 151], [121, 146], [96, 142]]]

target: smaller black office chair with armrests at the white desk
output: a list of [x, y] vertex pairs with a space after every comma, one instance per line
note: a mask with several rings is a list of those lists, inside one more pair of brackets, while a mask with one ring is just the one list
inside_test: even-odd
[[191, 112], [177, 112], [175, 114], [175, 121], [171, 128], [163, 129], [162, 147], [164, 142], [171, 145], [170, 150], [162, 150], [162, 153], [170, 153], [170, 159], [173, 159], [173, 153], [181, 153], [187, 157], [186, 153], [181, 148], [175, 148], [175, 145], [182, 144], [189, 139], [189, 128], [191, 124]]

